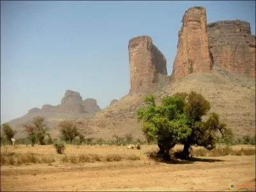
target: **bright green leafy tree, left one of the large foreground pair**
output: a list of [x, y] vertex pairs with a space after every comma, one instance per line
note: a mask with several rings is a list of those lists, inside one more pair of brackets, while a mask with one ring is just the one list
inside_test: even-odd
[[170, 149], [191, 132], [184, 115], [185, 102], [177, 95], [164, 97], [159, 106], [154, 95], [147, 95], [145, 102], [147, 106], [137, 111], [137, 118], [142, 122], [141, 130], [147, 138], [157, 140], [159, 156], [168, 160]]

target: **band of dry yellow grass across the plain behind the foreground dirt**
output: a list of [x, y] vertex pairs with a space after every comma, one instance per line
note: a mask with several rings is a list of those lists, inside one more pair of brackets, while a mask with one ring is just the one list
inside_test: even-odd
[[[138, 161], [141, 159], [156, 159], [157, 145], [143, 145], [141, 150], [127, 150], [125, 146], [75, 146], [66, 145], [65, 154], [57, 154], [52, 145], [26, 147], [1, 147], [1, 165], [22, 165], [22, 164], [59, 164], [59, 163], [95, 163], [95, 162], [117, 162], [117, 161]], [[172, 155], [182, 150], [182, 145], [175, 145], [170, 150]], [[193, 147], [192, 156], [251, 156], [255, 154], [255, 146], [236, 145], [227, 147], [219, 145], [213, 150], [203, 147]]]

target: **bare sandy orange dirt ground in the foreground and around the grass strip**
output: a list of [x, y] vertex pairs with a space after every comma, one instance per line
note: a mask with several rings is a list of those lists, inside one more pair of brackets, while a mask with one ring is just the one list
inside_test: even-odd
[[[241, 147], [245, 146], [236, 146]], [[156, 145], [142, 145], [141, 150], [128, 150], [125, 146], [68, 145], [67, 156], [136, 154], [140, 157], [137, 161], [71, 164], [61, 163], [65, 155], [56, 154], [52, 146], [8, 147], [8, 152], [21, 154], [54, 154], [56, 161], [1, 166], [1, 191], [231, 191], [230, 184], [234, 184], [232, 191], [255, 191], [254, 155], [196, 157], [193, 161], [168, 164], [148, 159], [146, 153], [156, 149]]]

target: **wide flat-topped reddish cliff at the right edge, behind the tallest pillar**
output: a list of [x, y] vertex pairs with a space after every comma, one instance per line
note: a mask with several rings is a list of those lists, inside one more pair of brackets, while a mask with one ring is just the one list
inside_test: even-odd
[[230, 72], [255, 77], [255, 36], [250, 24], [223, 20], [207, 26], [210, 51], [216, 64]]

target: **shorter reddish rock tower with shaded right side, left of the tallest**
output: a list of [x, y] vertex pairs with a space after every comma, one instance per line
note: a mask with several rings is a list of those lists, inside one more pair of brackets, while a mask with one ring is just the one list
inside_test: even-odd
[[129, 40], [131, 87], [129, 93], [152, 92], [159, 75], [167, 76], [166, 59], [153, 44], [150, 36], [136, 36]]

